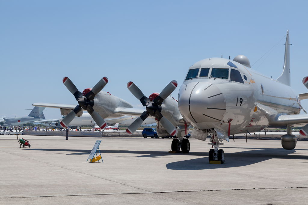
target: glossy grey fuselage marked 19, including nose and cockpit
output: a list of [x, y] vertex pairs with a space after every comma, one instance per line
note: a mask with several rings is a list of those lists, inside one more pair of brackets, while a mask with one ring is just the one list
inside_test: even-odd
[[184, 120], [200, 130], [228, 132], [232, 119], [231, 135], [257, 132], [280, 115], [299, 114], [299, 100], [290, 86], [229, 59], [198, 61], [187, 77], [178, 105]]

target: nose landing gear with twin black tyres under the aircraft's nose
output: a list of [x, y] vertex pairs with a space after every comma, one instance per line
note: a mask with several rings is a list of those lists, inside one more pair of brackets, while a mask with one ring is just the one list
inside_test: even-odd
[[212, 148], [209, 151], [209, 162], [210, 161], [221, 161], [221, 164], [225, 163], [225, 152], [223, 149], [218, 150], [219, 145], [223, 145], [222, 139], [218, 139], [217, 135], [213, 134], [213, 137], [210, 139], [209, 145], [212, 145]]

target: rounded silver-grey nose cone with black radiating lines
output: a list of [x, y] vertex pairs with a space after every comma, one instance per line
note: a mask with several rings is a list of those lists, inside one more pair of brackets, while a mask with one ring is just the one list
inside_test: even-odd
[[225, 97], [211, 83], [188, 83], [180, 88], [179, 109], [184, 119], [192, 124], [218, 123], [226, 112]]

